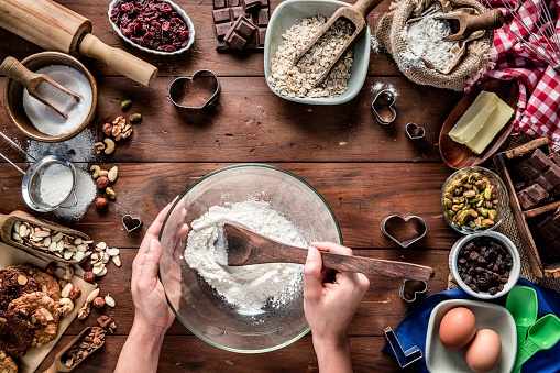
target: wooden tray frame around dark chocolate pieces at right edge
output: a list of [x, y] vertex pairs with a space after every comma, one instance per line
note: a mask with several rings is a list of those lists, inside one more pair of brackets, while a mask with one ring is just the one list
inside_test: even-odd
[[529, 256], [529, 263], [532, 273], [539, 278], [542, 277], [560, 278], [560, 262], [559, 263], [542, 262], [539, 255], [537, 243], [535, 242], [531, 232], [531, 227], [535, 226], [532, 220], [538, 219], [543, 215], [553, 212], [558, 207], [560, 207], [560, 201], [549, 200], [547, 205], [524, 211], [521, 205], [519, 204], [519, 200], [517, 199], [517, 194], [515, 193], [514, 188], [514, 180], [512, 179], [510, 167], [513, 166], [515, 158], [524, 157], [526, 154], [532, 153], [532, 151], [535, 151], [536, 149], [540, 149], [547, 155], [552, 152], [549, 145], [548, 138], [540, 138], [537, 140], [532, 140], [521, 146], [517, 146], [509, 151], [498, 153], [493, 156], [493, 161], [494, 165], [496, 166], [499, 173], [499, 176], [502, 177], [506, 186], [507, 193], [509, 194], [509, 206], [512, 207], [512, 210], [514, 212], [517, 229], [519, 230], [519, 235], [525, 245], [529, 250], [527, 254]]

